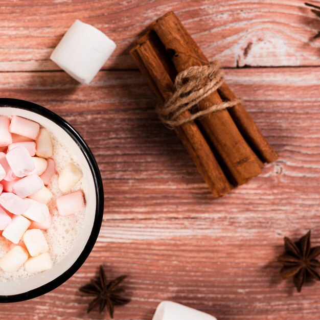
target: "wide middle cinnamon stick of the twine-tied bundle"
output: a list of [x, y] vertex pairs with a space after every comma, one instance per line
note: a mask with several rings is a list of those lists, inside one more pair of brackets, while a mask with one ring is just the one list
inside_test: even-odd
[[[181, 72], [190, 66], [201, 65], [198, 55], [190, 48], [180, 22], [173, 12], [157, 19], [150, 29], [154, 30], [164, 44], [176, 71]], [[214, 92], [199, 103], [199, 109], [206, 109], [221, 103], [221, 98]], [[261, 166], [255, 153], [247, 145], [227, 110], [199, 120], [208, 139], [217, 150], [227, 169], [238, 185], [261, 172]]]

